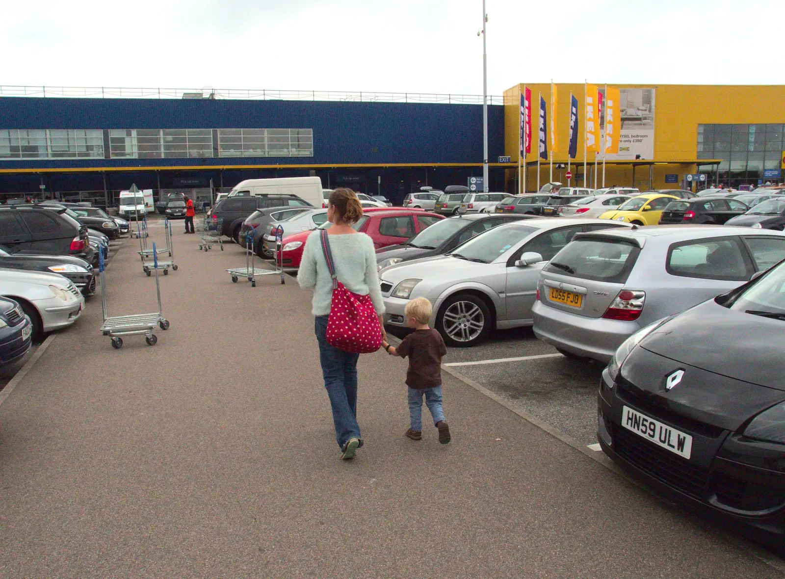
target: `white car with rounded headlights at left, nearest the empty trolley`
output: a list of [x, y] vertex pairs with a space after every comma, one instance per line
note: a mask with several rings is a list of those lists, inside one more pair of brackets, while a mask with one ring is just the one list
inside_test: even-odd
[[85, 297], [70, 280], [42, 271], [0, 269], [0, 296], [20, 304], [33, 322], [34, 340], [71, 326], [85, 308]]

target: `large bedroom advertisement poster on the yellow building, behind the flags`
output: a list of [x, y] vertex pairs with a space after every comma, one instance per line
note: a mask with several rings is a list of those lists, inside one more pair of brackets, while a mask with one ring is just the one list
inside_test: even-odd
[[[604, 89], [601, 89], [604, 93]], [[654, 158], [654, 97], [655, 89], [619, 89], [622, 127], [619, 131], [619, 153], [608, 153], [612, 159]], [[604, 97], [604, 95], [603, 95]], [[605, 118], [602, 111], [602, 137], [604, 142]], [[640, 156], [637, 156], [640, 155]], [[602, 155], [599, 155], [602, 158]]]

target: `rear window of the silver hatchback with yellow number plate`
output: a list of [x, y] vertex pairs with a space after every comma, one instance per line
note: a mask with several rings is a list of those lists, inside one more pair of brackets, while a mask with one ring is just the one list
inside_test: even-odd
[[579, 238], [568, 243], [542, 271], [596, 282], [624, 283], [641, 250], [626, 240]]

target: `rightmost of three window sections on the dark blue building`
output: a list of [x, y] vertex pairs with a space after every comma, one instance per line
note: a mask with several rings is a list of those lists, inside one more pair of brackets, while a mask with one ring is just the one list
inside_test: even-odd
[[220, 157], [312, 157], [313, 129], [218, 129]]

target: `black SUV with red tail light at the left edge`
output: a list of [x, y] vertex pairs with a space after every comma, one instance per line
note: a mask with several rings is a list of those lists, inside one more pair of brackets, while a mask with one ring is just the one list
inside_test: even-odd
[[93, 262], [87, 226], [68, 217], [65, 207], [0, 206], [0, 245], [9, 253], [75, 255]]

